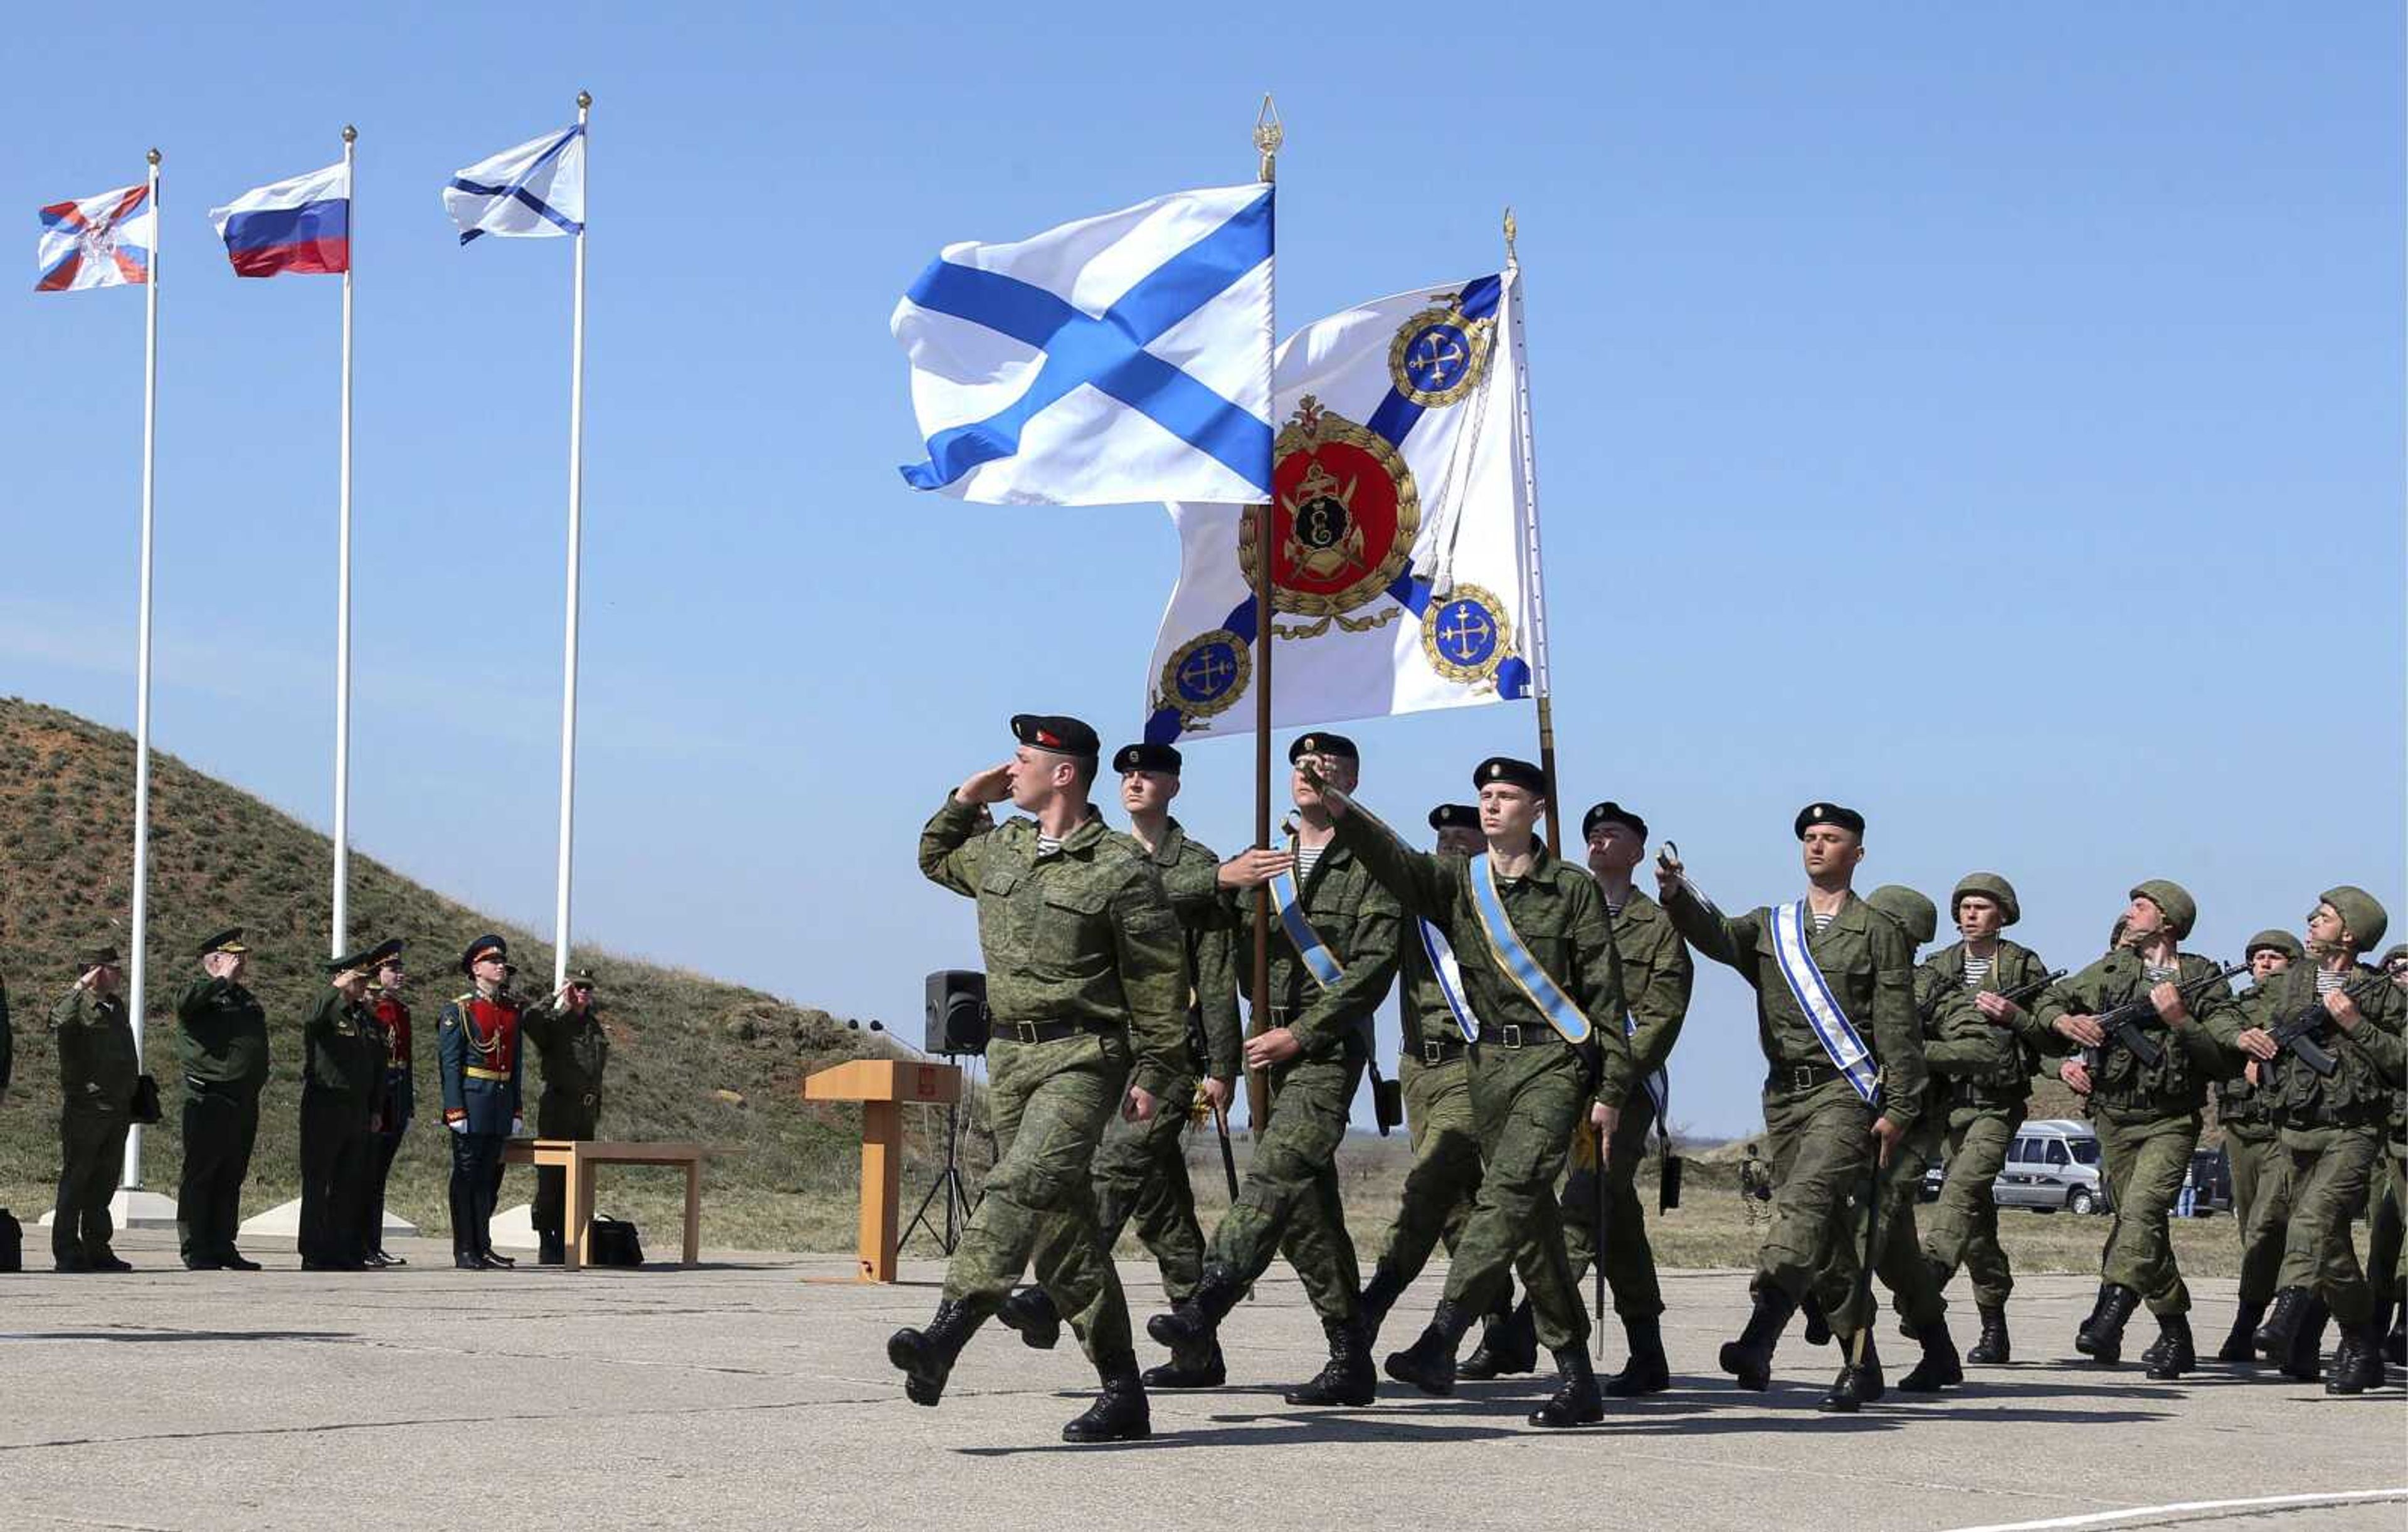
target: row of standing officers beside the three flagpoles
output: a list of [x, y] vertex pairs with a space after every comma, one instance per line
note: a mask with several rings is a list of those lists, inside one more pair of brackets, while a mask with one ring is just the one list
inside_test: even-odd
[[[407, 1265], [383, 1248], [385, 1183], [417, 1115], [409, 973], [400, 939], [327, 959], [325, 990], [301, 1024], [301, 1228], [303, 1272], [359, 1272]], [[176, 1238], [193, 1272], [258, 1272], [236, 1248], [243, 1180], [260, 1130], [270, 1033], [260, 997], [243, 983], [243, 930], [200, 944], [200, 978], [176, 997], [183, 1072], [183, 1173]], [[595, 1012], [592, 973], [578, 971], [544, 1000], [510, 990], [510, 949], [496, 935], [470, 942], [460, 971], [472, 988], [443, 1004], [436, 1072], [450, 1135], [453, 1265], [510, 1267], [494, 1253], [491, 1216], [503, 1147], [525, 1132], [520, 1060], [532, 1045], [544, 1067], [537, 1130], [590, 1139], [602, 1113], [609, 1033]], [[75, 985], [51, 1009], [60, 1084], [60, 1173], [51, 1255], [60, 1272], [130, 1272], [116, 1255], [108, 1200], [135, 1123], [159, 1120], [159, 1089], [142, 1074], [125, 1009], [116, 947], [77, 954]], [[10, 1029], [0, 990], [0, 1094], [7, 1086]], [[537, 1260], [566, 1255], [566, 1178], [535, 1173]]]

